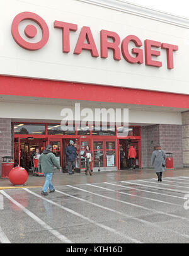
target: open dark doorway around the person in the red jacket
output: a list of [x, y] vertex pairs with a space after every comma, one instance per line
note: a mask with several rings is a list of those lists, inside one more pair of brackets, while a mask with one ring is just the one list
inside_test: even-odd
[[130, 163], [128, 160], [130, 146], [133, 146], [137, 153], [137, 156], [134, 160], [135, 168], [140, 168], [140, 140], [118, 139], [119, 170], [127, 170], [130, 168]]

